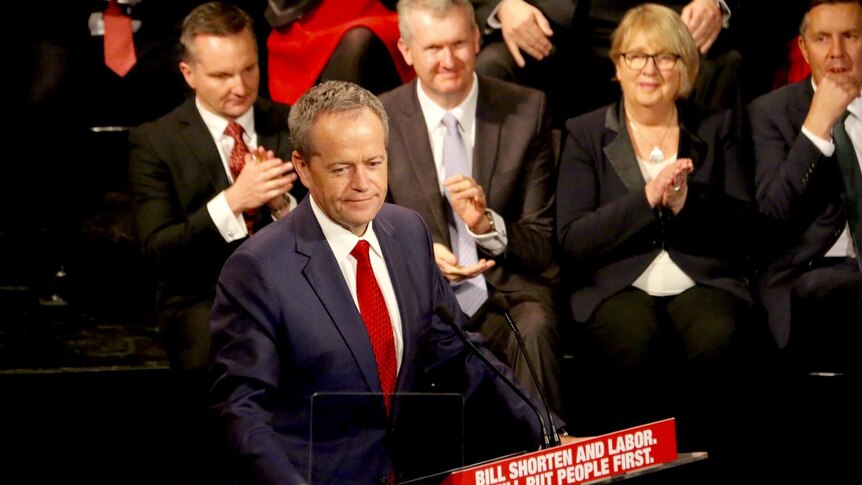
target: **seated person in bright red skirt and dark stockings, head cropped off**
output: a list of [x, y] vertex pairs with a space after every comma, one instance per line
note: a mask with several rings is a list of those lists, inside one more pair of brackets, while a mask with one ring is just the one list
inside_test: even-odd
[[293, 104], [318, 81], [350, 81], [374, 93], [413, 77], [395, 44], [398, 16], [391, 0], [272, 0], [269, 90]]

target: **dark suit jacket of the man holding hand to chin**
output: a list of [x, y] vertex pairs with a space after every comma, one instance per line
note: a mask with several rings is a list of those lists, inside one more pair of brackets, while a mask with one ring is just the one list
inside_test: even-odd
[[757, 203], [776, 222], [758, 287], [781, 347], [790, 335], [793, 281], [826, 254], [847, 224], [838, 163], [824, 157], [801, 131], [813, 97], [809, 77], [748, 107]]

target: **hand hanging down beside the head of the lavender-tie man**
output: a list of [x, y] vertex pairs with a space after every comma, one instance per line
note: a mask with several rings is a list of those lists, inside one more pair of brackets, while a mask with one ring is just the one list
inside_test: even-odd
[[536, 60], [542, 60], [551, 53], [554, 46], [549, 39], [554, 32], [541, 10], [524, 0], [503, 0], [497, 10], [497, 18], [503, 41], [518, 66], [526, 65], [521, 51]]

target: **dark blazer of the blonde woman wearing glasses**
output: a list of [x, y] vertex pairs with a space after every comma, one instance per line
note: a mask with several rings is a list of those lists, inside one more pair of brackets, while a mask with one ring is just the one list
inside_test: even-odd
[[587, 321], [608, 297], [629, 287], [665, 249], [698, 284], [751, 301], [746, 226], [753, 208], [739, 160], [733, 116], [680, 104], [678, 157], [694, 171], [683, 209], [651, 209], [622, 103], [571, 119], [557, 182], [557, 231], [577, 274], [570, 298]]

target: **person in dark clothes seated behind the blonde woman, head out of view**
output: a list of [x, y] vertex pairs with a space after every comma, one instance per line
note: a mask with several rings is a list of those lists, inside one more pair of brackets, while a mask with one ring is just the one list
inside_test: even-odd
[[[477, 19], [483, 47], [477, 72], [545, 91], [554, 125], [566, 118], [611, 102], [616, 89], [604, 58], [610, 35], [635, 0], [481, 0]], [[701, 64], [695, 86], [698, 101], [708, 106], [740, 108], [734, 73], [739, 56], [724, 46], [711, 49], [727, 25], [730, 9], [716, 0], [659, 2], [681, 12], [702, 55], [721, 60]], [[572, 66], [577, 66], [572, 69]], [[726, 72], [725, 72], [726, 71]], [[573, 73], [573, 74], [572, 74]], [[572, 86], [587, 86], [590, 96], [578, 96]]]

